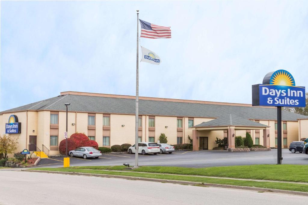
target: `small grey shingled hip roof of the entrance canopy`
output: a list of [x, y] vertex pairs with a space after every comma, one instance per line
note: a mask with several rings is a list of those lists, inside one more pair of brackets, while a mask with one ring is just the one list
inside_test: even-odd
[[203, 122], [201, 124], [194, 126], [193, 128], [217, 127], [217, 126], [218, 127], [223, 127], [223, 126], [269, 127], [265, 124], [261, 124], [258, 122], [254, 122], [251, 120], [241, 118], [236, 115], [229, 114], [229, 115], [221, 116], [214, 120], [210, 120], [208, 122]]

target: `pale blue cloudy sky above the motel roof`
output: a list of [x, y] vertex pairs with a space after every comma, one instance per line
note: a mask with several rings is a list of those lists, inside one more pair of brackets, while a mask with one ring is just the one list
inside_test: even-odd
[[140, 38], [161, 63], [139, 63], [139, 96], [251, 104], [278, 69], [308, 87], [308, 1], [1, 1], [0, 110], [64, 91], [135, 96], [136, 10], [172, 31]]

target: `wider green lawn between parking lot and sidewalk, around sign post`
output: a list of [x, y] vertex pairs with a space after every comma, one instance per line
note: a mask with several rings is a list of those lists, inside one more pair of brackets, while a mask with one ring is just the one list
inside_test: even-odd
[[274, 181], [306, 182], [308, 173], [307, 165], [244, 165], [209, 168], [184, 168], [184, 167], [159, 167], [146, 166], [138, 169], [126, 170], [124, 166], [86, 166], [70, 167], [71, 169], [95, 169], [95, 170], [125, 170], [132, 172], [151, 172], [162, 174], [199, 175], [229, 177], [238, 179], [263, 179]]

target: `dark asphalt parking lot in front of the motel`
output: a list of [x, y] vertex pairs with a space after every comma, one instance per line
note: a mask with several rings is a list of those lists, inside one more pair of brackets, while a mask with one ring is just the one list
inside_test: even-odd
[[[282, 150], [283, 164], [308, 164], [308, 156]], [[135, 155], [128, 153], [103, 154], [98, 159], [70, 157], [70, 166], [134, 165]], [[277, 149], [267, 152], [175, 151], [172, 154], [139, 154], [139, 166], [215, 167], [250, 164], [276, 164]], [[63, 167], [63, 156], [41, 159], [38, 167]]]

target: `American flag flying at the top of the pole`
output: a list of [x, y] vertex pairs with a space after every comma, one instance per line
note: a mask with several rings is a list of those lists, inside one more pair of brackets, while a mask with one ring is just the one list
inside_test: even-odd
[[[140, 20], [140, 19], [139, 19]], [[144, 38], [171, 38], [170, 26], [157, 26], [140, 20], [141, 35]]]

